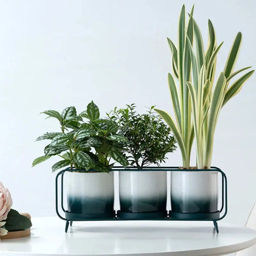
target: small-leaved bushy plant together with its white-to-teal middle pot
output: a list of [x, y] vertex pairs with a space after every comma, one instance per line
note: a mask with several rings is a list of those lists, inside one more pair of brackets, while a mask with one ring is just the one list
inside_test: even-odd
[[[166, 171], [152, 171], [159, 166], [166, 154], [175, 150], [175, 138], [154, 106], [146, 114], [138, 114], [135, 105], [111, 111], [108, 116], [119, 125], [119, 134], [127, 138], [125, 153], [133, 168], [119, 172], [118, 217], [159, 218], [166, 217]], [[161, 168], [160, 168], [161, 169]]]

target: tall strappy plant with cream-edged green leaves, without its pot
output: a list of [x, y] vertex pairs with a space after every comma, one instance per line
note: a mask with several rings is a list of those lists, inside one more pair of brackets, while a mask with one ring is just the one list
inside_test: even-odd
[[[194, 6], [186, 25], [185, 6], [182, 7], [177, 47], [168, 39], [174, 71], [174, 76], [168, 74], [168, 81], [176, 122], [166, 111], [156, 111], [161, 114], [177, 139], [182, 151], [183, 168], [190, 167], [191, 146], [195, 137], [197, 167], [209, 169], [220, 110], [228, 100], [238, 94], [254, 70], [231, 82], [239, 73], [250, 68], [249, 66], [233, 71], [242, 41], [242, 34], [239, 32], [234, 39], [225, 68], [215, 81], [217, 54], [223, 42], [217, 45], [214, 26], [209, 20], [209, 43], [207, 50], [204, 50], [202, 34], [193, 18], [193, 10]], [[179, 90], [175, 77], [180, 85]]]

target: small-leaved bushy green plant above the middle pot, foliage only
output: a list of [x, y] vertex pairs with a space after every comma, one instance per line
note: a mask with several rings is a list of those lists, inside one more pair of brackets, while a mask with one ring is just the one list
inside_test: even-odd
[[119, 125], [120, 134], [127, 138], [124, 142], [131, 166], [138, 169], [164, 162], [166, 154], [175, 150], [175, 138], [161, 116], [156, 115], [151, 106], [146, 114], [138, 114], [135, 105], [114, 108], [108, 116]]

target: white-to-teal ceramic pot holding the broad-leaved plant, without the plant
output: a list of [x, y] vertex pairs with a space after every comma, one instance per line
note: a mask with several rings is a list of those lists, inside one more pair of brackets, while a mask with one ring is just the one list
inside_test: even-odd
[[68, 172], [68, 212], [105, 214], [114, 210], [113, 172]]

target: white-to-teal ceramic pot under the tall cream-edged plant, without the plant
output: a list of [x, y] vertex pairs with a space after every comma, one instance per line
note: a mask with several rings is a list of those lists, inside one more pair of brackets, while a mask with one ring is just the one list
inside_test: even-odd
[[218, 172], [172, 172], [170, 197], [172, 212], [217, 212]]

